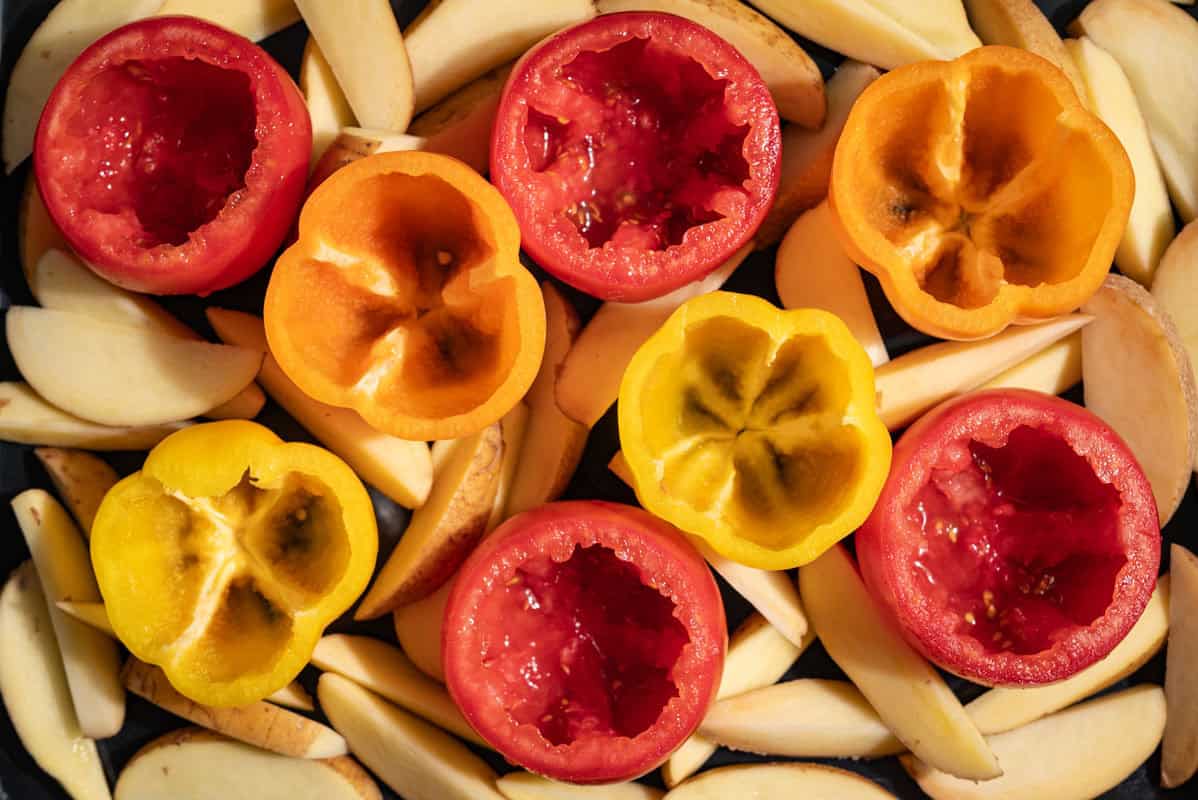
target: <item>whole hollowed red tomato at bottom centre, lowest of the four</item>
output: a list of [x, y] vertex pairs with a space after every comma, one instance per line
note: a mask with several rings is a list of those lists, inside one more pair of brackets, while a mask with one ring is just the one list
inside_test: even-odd
[[715, 697], [724, 604], [702, 557], [629, 505], [552, 503], [495, 531], [446, 606], [462, 714], [509, 760], [576, 783], [664, 762]]

